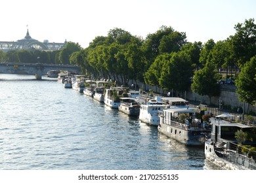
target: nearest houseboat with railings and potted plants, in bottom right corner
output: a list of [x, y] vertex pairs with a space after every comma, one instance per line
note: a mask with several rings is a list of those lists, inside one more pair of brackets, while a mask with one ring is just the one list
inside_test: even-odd
[[248, 146], [256, 146], [255, 138], [239, 144], [236, 131], [242, 130], [255, 137], [255, 127], [211, 118], [211, 137], [205, 141], [205, 159], [219, 169], [256, 170], [256, 151]]

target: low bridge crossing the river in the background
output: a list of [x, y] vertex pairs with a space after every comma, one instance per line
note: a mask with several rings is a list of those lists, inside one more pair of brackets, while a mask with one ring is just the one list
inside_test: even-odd
[[76, 65], [46, 64], [46, 63], [0, 63], [0, 73], [16, 75], [35, 75], [41, 80], [43, 75], [47, 75], [51, 70], [72, 71], [77, 74], [81, 69]]

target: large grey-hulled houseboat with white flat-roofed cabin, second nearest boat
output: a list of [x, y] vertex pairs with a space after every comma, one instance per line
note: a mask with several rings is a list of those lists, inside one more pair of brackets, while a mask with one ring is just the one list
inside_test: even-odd
[[210, 129], [202, 127], [195, 110], [172, 107], [159, 113], [158, 131], [186, 145], [203, 146]]

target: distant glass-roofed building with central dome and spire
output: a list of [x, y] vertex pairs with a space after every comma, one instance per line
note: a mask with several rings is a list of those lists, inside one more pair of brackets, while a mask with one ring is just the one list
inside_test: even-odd
[[24, 39], [20, 39], [16, 42], [14, 41], [0, 41], [0, 50], [3, 52], [8, 52], [11, 50], [40, 50], [40, 51], [54, 51], [60, 50], [64, 47], [64, 43], [49, 42], [47, 40], [40, 42], [36, 39], [32, 39], [30, 33], [27, 30]]

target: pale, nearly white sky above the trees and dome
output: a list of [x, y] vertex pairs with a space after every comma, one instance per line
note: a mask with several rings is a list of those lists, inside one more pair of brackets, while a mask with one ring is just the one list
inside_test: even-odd
[[[255, 0], [8, 0], [0, 3], [0, 41], [17, 41], [29, 29], [43, 42], [78, 42], [121, 28], [146, 38], [161, 25], [185, 32], [190, 42], [234, 35], [234, 25], [256, 19]], [[256, 20], [255, 20], [256, 24]]]

